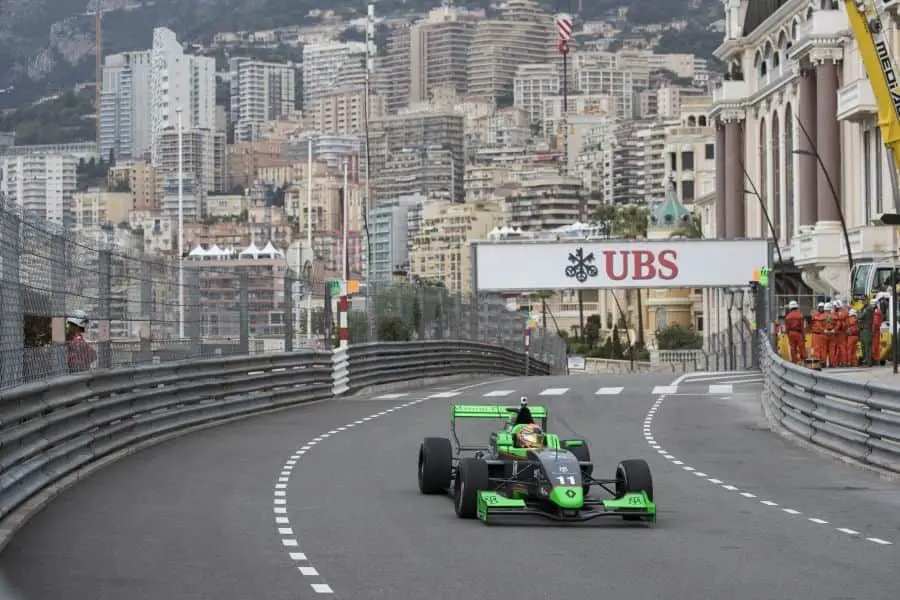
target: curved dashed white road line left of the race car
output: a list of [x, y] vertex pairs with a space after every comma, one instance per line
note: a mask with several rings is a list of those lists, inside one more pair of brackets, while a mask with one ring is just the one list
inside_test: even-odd
[[[497, 383], [497, 381], [498, 381], [497, 379], [492, 379], [489, 381], [482, 381], [482, 382], [475, 383], [472, 385], [462, 386], [462, 387], [456, 388], [455, 390], [449, 390], [449, 391], [436, 393], [431, 396], [428, 396], [428, 398], [452, 398], [454, 396], [458, 396], [459, 394], [461, 394], [463, 390], [467, 390], [470, 388], [479, 387], [479, 386], [483, 386], [483, 385], [488, 385], [488, 384], [495, 384], [495, 383]], [[512, 393], [512, 391], [509, 391], [507, 393]], [[407, 395], [408, 395], [407, 393], [384, 394], [382, 396], [379, 396], [379, 399], [400, 398], [400, 397], [407, 396]], [[495, 395], [499, 395], [499, 393], [495, 392]], [[341, 427], [332, 429], [332, 430], [328, 431], [327, 433], [322, 433], [318, 437], [315, 437], [312, 440], [306, 442], [305, 445], [301, 446], [299, 450], [297, 450], [293, 454], [291, 454], [290, 457], [285, 461], [284, 465], [282, 465], [282, 467], [281, 467], [281, 471], [280, 471], [279, 477], [278, 477], [278, 483], [275, 484], [275, 490], [273, 492], [274, 506], [272, 507], [272, 510], [275, 513], [275, 515], [286, 515], [287, 514], [287, 506], [286, 506], [287, 498], [285, 497], [287, 495], [287, 492], [285, 490], [287, 490], [288, 484], [290, 483], [291, 472], [294, 468], [294, 465], [297, 464], [297, 461], [302, 460], [303, 456], [308, 451], [310, 451], [314, 446], [316, 446], [319, 442], [323, 442], [327, 438], [329, 438], [333, 435], [337, 435], [343, 431], [351, 430], [352, 427], [354, 427], [355, 425], [362, 425], [368, 421], [377, 419], [378, 417], [392, 414], [393, 412], [398, 411], [401, 408], [406, 408], [406, 407], [413, 406], [413, 405], [419, 404], [421, 402], [424, 402], [426, 399], [427, 398], [419, 398], [417, 400], [411, 400], [411, 401], [405, 402], [403, 404], [398, 404], [397, 406], [394, 406], [387, 410], [379, 411], [375, 414], [369, 415], [368, 417], [364, 417], [362, 419], [358, 419], [356, 421], [347, 423], [346, 425], [342, 425]], [[297, 539], [295, 537], [293, 537], [294, 529], [292, 527], [289, 527], [290, 520], [288, 519], [288, 517], [276, 516], [275, 524], [279, 526], [277, 529], [278, 529], [278, 535], [282, 536], [282, 537], [280, 537], [282, 546], [284, 546], [286, 548], [292, 548], [292, 549], [299, 547], [300, 543], [297, 541]], [[283, 536], [291, 536], [291, 537], [283, 537]], [[303, 552], [291, 551], [291, 552], [288, 552], [288, 556], [293, 561], [306, 561], [307, 560], [306, 554]], [[321, 577], [321, 575], [319, 574], [319, 571], [312, 565], [302, 565], [302, 566], [298, 566], [297, 568], [304, 577]], [[334, 593], [334, 590], [327, 583], [311, 583], [310, 587], [312, 587], [312, 590], [317, 594], [333, 594]]]

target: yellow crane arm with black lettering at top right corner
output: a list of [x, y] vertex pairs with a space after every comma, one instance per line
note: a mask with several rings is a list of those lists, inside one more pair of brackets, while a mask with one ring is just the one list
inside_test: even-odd
[[881, 138], [900, 169], [900, 69], [891, 54], [875, 0], [844, 0], [850, 29], [878, 105]]

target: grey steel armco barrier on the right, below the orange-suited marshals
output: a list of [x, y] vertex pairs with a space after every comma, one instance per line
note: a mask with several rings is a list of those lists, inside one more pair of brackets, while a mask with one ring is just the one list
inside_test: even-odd
[[771, 418], [817, 446], [900, 473], [900, 391], [799, 367], [767, 337], [760, 343]]

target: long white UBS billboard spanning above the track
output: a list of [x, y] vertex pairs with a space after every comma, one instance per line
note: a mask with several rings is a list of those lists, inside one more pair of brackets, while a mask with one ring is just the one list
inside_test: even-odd
[[744, 287], [769, 266], [768, 240], [476, 242], [482, 292]]

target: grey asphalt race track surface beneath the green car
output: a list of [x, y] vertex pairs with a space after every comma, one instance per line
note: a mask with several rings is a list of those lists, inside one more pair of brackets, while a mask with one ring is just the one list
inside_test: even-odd
[[595, 472], [645, 457], [653, 525], [488, 527], [420, 496], [418, 445], [447, 431], [443, 386], [129, 457], [35, 516], [0, 555], [0, 581], [16, 600], [896, 598], [900, 483], [769, 432], [756, 375], [671, 379], [473, 380], [452, 395], [548, 404], [554, 429], [589, 440]]

